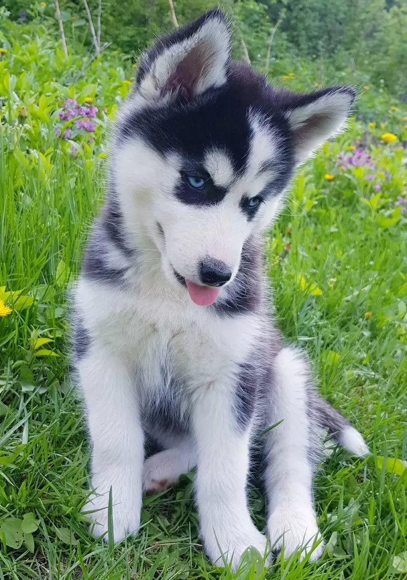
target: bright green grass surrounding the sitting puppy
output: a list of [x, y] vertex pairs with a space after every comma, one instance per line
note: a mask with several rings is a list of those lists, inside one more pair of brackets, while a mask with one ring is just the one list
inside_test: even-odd
[[[64, 63], [42, 30], [34, 39], [7, 30], [0, 34], [9, 49], [0, 61], [0, 287], [12, 311], [0, 318], [0, 579], [406, 577], [407, 554], [394, 559], [407, 551], [407, 220], [395, 206], [407, 177], [406, 110], [398, 104], [392, 111], [384, 93], [365, 92], [363, 118], [306, 165], [266, 240], [278, 324], [307, 351], [322, 394], [361, 430], [373, 456], [354, 461], [330, 449], [321, 465], [315, 499], [328, 542], [322, 560], [279, 559], [267, 574], [253, 561], [251, 571], [246, 565], [234, 576], [202, 553], [192, 474], [144, 499], [136, 538], [110, 546], [86, 530], [80, 509], [89, 444], [68, 374], [67, 289], [100, 206], [102, 141], [128, 90], [126, 75], [120, 57], [106, 53], [75, 80], [81, 55]], [[301, 71], [293, 86], [311, 86], [313, 71], [303, 64]], [[92, 96], [100, 108], [95, 142], [73, 136], [75, 157], [72, 143], [53, 132], [68, 96]], [[369, 128], [369, 121], [386, 126]], [[383, 131], [399, 140], [384, 144]], [[360, 139], [375, 167], [339, 168], [337, 155]], [[249, 496], [261, 527], [264, 499], [253, 488]]]

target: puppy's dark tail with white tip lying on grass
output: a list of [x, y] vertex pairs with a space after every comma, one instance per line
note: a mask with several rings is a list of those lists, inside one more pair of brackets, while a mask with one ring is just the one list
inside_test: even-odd
[[[319, 397], [318, 397], [319, 398]], [[326, 427], [341, 447], [358, 457], [365, 457], [370, 454], [369, 447], [357, 429], [351, 426], [328, 401], [319, 398], [318, 400], [318, 422], [322, 427]]]

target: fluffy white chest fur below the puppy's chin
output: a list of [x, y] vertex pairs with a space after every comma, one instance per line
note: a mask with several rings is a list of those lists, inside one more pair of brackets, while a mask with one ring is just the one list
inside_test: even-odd
[[121, 287], [81, 278], [77, 316], [98, 348], [132, 373], [148, 432], [186, 430], [191, 400], [220, 376], [231, 378], [259, 347], [258, 314], [220, 317], [165, 284], [152, 269]]

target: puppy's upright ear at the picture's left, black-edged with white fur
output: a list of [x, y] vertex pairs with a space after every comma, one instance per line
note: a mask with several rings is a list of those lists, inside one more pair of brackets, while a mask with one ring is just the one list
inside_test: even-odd
[[230, 36], [226, 17], [215, 9], [159, 38], [141, 58], [133, 95], [144, 104], [177, 95], [191, 100], [223, 85], [230, 60]]

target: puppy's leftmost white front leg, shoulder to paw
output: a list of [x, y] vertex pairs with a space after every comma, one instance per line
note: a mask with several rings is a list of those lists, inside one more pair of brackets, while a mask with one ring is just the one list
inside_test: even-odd
[[106, 534], [111, 488], [114, 540], [118, 542], [140, 525], [144, 447], [135, 386], [125, 362], [96, 347], [78, 362], [78, 371], [93, 444], [95, 490], [83, 510], [93, 511], [88, 514], [95, 520], [92, 534]]

